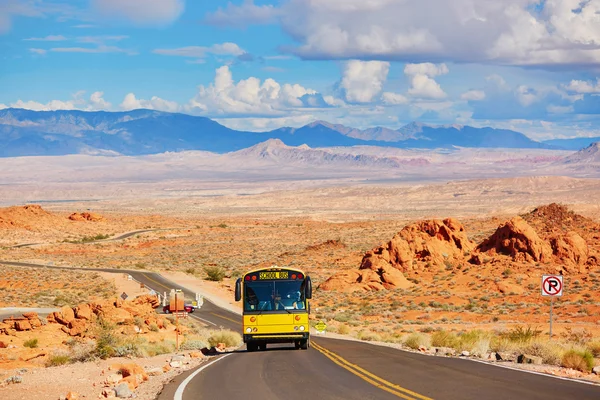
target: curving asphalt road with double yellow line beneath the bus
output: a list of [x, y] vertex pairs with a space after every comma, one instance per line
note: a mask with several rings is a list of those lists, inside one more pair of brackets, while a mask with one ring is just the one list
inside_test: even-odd
[[[25, 267], [45, 265], [5, 262]], [[82, 268], [84, 269], [84, 268]], [[87, 269], [98, 271], [98, 269]], [[177, 288], [194, 293], [160, 274], [129, 273], [158, 292]], [[205, 300], [190, 314], [213, 327], [241, 329], [241, 317]], [[182, 385], [185, 383], [185, 385]], [[213, 364], [188, 371], [165, 386], [159, 400], [598, 400], [600, 386], [525, 373], [481, 362], [427, 356], [365, 342], [313, 336], [307, 351], [271, 345], [267, 351], [239, 350], [218, 356]]]

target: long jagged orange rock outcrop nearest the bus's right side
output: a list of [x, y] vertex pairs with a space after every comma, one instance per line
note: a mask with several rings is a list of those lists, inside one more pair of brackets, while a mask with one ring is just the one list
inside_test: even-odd
[[358, 271], [334, 275], [319, 286], [323, 290], [406, 289], [413, 284], [403, 272], [463, 261], [475, 247], [463, 225], [455, 219], [428, 220], [404, 227], [387, 244], [368, 251]]

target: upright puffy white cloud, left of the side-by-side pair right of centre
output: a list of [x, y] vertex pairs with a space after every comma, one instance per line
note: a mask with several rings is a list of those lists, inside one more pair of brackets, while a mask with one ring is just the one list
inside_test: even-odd
[[340, 87], [351, 103], [369, 103], [381, 93], [390, 63], [385, 61], [346, 62]]

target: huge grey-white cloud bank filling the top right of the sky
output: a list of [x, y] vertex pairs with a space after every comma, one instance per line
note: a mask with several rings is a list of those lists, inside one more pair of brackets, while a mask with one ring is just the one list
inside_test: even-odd
[[[308, 59], [600, 65], [600, 2], [581, 0], [245, 1], [221, 24], [279, 21]], [[256, 18], [251, 10], [268, 10]], [[435, 10], [435, 13], [432, 12]]]

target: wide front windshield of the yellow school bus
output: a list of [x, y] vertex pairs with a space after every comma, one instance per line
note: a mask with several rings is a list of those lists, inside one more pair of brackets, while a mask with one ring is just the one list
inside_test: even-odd
[[244, 311], [306, 309], [303, 281], [259, 281], [244, 285]]

